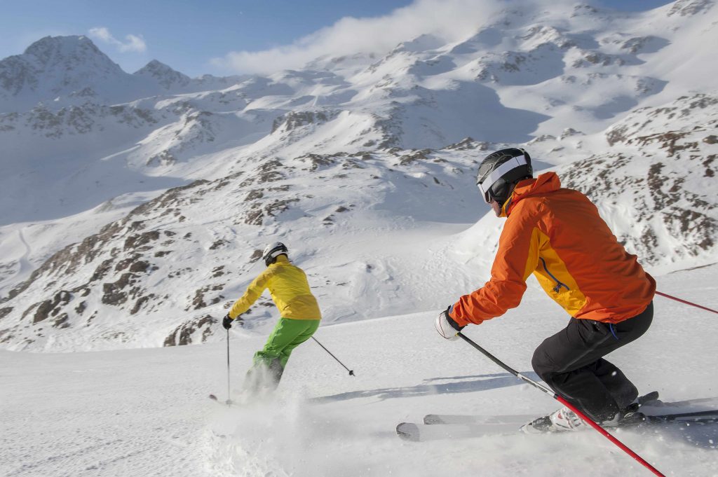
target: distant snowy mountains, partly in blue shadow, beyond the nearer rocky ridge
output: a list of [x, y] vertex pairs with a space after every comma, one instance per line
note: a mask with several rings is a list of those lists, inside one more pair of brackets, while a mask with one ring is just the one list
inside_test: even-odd
[[[491, 10], [465, 39], [424, 34], [383, 56], [322, 57], [267, 77], [190, 80], [154, 60], [131, 75], [87, 37], [41, 39], [0, 64], [2, 240], [22, 223], [218, 178], [254, 157], [586, 133], [580, 144], [538, 151], [561, 164], [605, 148], [602, 131], [635, 108], [714, 91], [712, 3], [630, 14], [554, 7]], [[327, 121], [271, 132], [290, 112]], [[86, 236], [79, 232], [73, 240]], [[29, 255], [32, 263], [47, 257], [44, 249]], [[0, 286], [24, 278], [11, 274]]]

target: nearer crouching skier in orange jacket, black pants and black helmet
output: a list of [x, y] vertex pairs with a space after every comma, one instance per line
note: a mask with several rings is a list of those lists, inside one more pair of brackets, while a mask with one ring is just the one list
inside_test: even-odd
[[[526, 279], [572, 316], [538, 346], [534, 371], [559, 395], [605, 425], [640, 419], [638, 389], [603, 356], [641, 336], [653, 319], [656, 282], [625, 251], [581, 192], [561, 188], [554, 172], [533, 178], [531, 157], [507, 148], [482, 161], [477, 186], [498, 217], [506, 217], [485, 285], [459, 298], [436, 321], [444, 338], [468, 324], [501, 316], [521, 302]], [[583, 426], [567, 408], [540, 417], [526, 432]]]

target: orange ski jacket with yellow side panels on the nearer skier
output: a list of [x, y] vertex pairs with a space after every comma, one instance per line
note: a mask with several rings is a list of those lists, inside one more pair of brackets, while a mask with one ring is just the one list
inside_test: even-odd
[[641, 313], [656, 281], [625, 251], [596, 206], [562, 189], [554, 172], [516, 184], [504, 205], [506, 223], [491, 279], [454, 304], [460, 325], [480, 324], [521, 303], [528, 275], [574, 318], [605, 323]]

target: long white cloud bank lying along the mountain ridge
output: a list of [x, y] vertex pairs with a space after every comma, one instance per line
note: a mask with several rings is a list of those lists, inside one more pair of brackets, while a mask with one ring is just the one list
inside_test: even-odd
[[[229, 52], [210, 62], [234, 72], [269, 73], [302, 67], [323, 55], [381, 54], [421, 34], [452, 42], [475, 34], [482, 25], [490, 23], [498, 11], [511, 8], [531, 11], [540, 7], [539, 3], [532, 0], [414, 0], [409, 6], [385, 16], [345, 17], [289, 45], [258, 52]], [[558, 0], [557, 3], [565, 2]]]

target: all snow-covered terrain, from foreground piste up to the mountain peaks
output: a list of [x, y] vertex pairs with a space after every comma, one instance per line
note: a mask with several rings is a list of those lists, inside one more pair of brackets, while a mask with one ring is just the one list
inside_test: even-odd
[[[646, 475], [592, 430], [394, 434], [427, 413], [556, 408], [433, 327], [488, 278], [505, 221], [475, 171], [495, 149], [526, 147], [589, 194], [658, 290], [718, 308], [714, 2], [544, 6], [266, 77], [130, 75], [85, 37], [2, 60], [0, 475]], [[276, 240], [356, 376], [308, 342], [273, 399], [227, 408], [207, 398], [227, 393], [218, 318]], [[268, 302], [230, 333], [231, 389], [274, 326]], [[694, 400], [680, 409], [717, 406], [714, 316], [655, 304], [610, 359], [643, 392]], [[535, 378], [533, 349], [566, 321], [531, 279], [466, 333]], [[159, 347], [181, 332], [192, 345]], [[668, 476], [704, 476], [715, 431], [617, 436]]]

